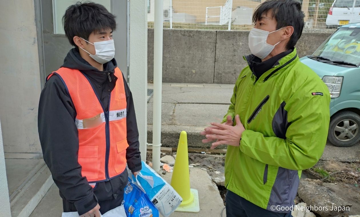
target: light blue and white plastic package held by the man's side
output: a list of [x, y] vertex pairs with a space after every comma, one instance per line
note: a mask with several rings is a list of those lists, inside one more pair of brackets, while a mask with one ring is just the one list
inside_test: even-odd
[[[164, 217], [170, 216], [171, 213], [181, 204], [183, 199], [161, 176], [158, 175], [148, 164], [142, 163], [142, 169], [136, 175], [133, 175], [133, 182], [143, 190], [150, 201], [156, 206]], [[131, 173], [130, 173], [131, 174]]]

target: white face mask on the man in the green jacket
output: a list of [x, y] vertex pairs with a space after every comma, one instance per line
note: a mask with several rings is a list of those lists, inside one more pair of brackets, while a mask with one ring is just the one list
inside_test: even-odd
[[[273, 32], [279, 31], [281, 29], [275, 30]], [[265, 59], [265, 57], [269, 55], [271, 51], [273, 51], [275, 46], [281, 42], [279, 41], [275, 45], [269, 45], [266, 43], [267, 36], [269, 36], [269, 34], [273, 32], [252, 28], [249, 33], [249, 48], [251, 53], [260, 59]]]

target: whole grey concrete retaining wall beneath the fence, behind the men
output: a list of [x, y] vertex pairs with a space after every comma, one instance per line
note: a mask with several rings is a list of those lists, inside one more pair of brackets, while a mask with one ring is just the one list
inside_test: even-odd
[[[169, 30], [163, 33], [163, 82], [235, 83], [247, 63], [246, 31]], [[329, 33], [303, 33], [296, 48], [311, 55]], [[148, 81], [153, 81], [154, 30], [148, 29]]]

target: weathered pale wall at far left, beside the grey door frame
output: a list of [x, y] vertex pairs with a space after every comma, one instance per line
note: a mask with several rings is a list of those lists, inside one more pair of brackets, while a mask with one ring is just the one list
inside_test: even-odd
[[1, 0], [0, 14], [0, 119], [5, 156], [38, 155], [41, 84], [34, 0]]

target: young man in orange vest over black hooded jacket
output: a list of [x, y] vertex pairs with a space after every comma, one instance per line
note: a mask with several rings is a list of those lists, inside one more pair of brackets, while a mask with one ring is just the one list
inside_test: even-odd
[[122, 204], [126, 164], [134, 175], [141, 170], [134, 103], [114, 59], [114, 15], [78, 2], [63, 24], [75, 48], [41, 92], [41, 148], [64, 212], [100, 217]]

